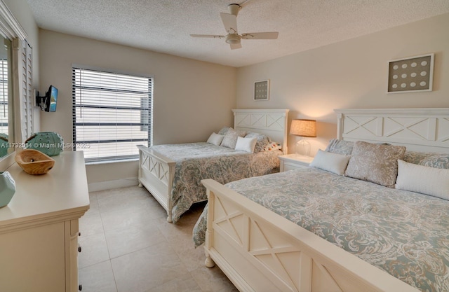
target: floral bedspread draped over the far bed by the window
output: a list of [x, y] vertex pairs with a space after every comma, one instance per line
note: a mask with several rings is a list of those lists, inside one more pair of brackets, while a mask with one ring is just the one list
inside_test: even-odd
[[194, 202], [207, 200], [202, 179], [229, 183], [251, 176], [279, 172], [278, 155], [282, 154], [281, 151], [235, 151], [206, 142], [155, 145], [151, 148], [176, 162], [170, 196], [173, 202], [174, 223]]

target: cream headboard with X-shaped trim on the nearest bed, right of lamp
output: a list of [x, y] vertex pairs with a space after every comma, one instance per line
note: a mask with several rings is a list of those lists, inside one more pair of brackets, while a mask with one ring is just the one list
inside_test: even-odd
[[339, 139], [383, 141], [405, 144], [409, 150], [448, 152], [449, 109], [338, 109], [335, 112], [339, 115]]

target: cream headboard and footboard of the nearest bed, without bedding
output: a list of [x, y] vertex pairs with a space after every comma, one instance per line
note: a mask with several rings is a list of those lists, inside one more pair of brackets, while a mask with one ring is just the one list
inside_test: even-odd
[[[339, 109], [337, 137], [449, 153], [449, 109]], [[206, 266], [239, 291], [417, 291], [212, 179]]]

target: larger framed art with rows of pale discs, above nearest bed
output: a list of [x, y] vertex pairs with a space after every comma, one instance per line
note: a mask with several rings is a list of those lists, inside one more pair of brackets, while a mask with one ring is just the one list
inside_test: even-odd
[[389, 62], [388, 93], [432, 91], [434, 54]]

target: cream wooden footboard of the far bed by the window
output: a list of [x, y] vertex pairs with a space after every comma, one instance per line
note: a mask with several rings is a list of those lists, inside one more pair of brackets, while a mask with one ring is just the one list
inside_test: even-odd
[[167, 211], [167, 221], [171, 222], [170, 200], [176, 162], [152, 151], [152, 149], [138, 145], [139, 148], [139, 186], [145, 186], [153, 197]]

